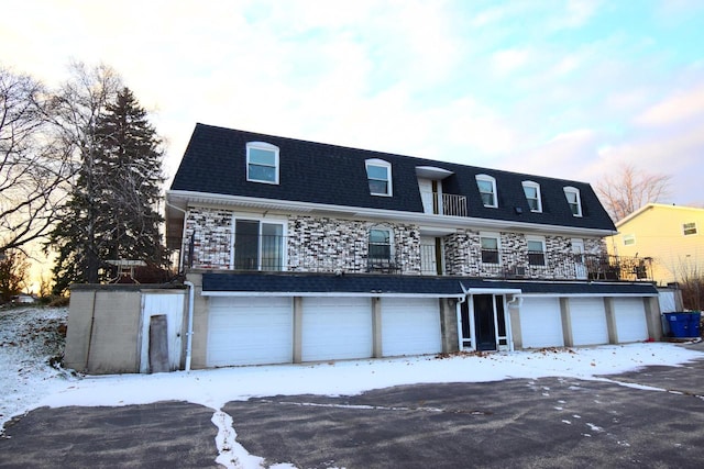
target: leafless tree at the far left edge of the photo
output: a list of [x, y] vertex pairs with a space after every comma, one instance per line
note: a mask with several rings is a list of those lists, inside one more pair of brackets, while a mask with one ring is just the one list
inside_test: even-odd
[[55, 220], [69, 166], [48, 115], [41, 83], [0, 68], [0, 252], [23, 249]]

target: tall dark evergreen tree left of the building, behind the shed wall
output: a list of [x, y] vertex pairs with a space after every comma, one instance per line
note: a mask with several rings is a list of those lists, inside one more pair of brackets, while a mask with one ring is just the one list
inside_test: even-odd
[[55, 291], [73, 282], [114, 278], [109, 260], [144, 260], [160, 268], [168, 261], [160, 234], [164, 220], [157, 212], [163, 152], [146, 111], [123, 88], [94, 132], [90, 160], [84, 160], [51, 237], [58, 253]]

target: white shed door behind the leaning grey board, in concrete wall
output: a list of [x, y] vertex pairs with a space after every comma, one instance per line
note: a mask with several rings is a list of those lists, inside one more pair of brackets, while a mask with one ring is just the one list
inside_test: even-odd
[[166, 316], [168, 367], [172, 371], [180, 368], [185, 298], [186, 294], [183, 291], [142, 295], [140, 372], [150, 372], [150, 322], [152, 316], [158, 315]]

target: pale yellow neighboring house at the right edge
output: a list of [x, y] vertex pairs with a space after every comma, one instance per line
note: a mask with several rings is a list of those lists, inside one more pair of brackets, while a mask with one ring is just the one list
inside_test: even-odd
[[704, 275], [704, 209], [648, 203], [616, 223], [609, 253], [638, 259], [659, 284]]

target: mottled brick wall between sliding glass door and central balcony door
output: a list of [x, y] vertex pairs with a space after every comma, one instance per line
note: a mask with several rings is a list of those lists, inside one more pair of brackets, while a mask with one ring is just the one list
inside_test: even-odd
[[409, 224], [373, 223], [308, 215], [288, 221], [288, 266], [294, 271], [365, 272], [369, 232], [391, 228], [399, 273], [420, 273], [420, 232]]

